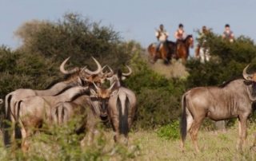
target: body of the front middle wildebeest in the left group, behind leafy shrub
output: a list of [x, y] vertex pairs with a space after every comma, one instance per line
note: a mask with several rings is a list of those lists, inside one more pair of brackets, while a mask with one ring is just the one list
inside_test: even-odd
[[[65, 101], [56, 104], [51, 111], [52, 124], [64, 125], [70, 120], [75, 119], [75, 129], [77, 134], [86, 133], [87, 144], [90, 145], [97, 133], [96, 125], [101, 121], [98, 113], [98, 107], [95, 107], [90, 100], [90, 96], [78, 96], [75, 100]], [[82, 139], [82, 145], [85, 144], [86, 136]]]

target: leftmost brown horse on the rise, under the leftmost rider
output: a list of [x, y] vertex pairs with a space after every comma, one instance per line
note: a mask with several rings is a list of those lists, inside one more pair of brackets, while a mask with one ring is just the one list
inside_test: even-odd
[[156, 47], [157, 46], [152, 43], [147, 48], [150, 62], [154, 64], [158, 59], [162, 59], [166, 65], [169, 64], [171, 57], [174, 55], [176, 43], [173, 41], [165, 41], [160, 45], [158, 52], [156, 52]]

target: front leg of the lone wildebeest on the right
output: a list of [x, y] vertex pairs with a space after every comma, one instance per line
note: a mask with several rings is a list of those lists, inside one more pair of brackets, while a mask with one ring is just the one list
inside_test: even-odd
[[238, 122], [238, 144], [237, 150], [242, 151], [242, 145], [246, 142], [246, 131], [247, 131], [247, 117], [239, 117]]

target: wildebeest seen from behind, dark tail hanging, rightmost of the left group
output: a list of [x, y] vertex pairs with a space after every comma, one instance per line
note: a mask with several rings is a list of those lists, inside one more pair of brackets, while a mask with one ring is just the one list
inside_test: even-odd
[[124, 135], [125, 142], [128, 143], [128, 132], [133, 124], [135, 112], [137, 111], [137, 100], [134, 92], [122, 86], [122, 80], [132, 73], [130, 67], [128, 65], [126, 67], [129, 69], [128, 73], [122, 73], [121, 70], [114, 73], [110, 69], [112, 76], [107, 79], [110, 81], [110, 84], [114, 84], [115, 90], [110, 95], [107, 109], [115, 132], [114, 140], [119, 142], [120, 135]]

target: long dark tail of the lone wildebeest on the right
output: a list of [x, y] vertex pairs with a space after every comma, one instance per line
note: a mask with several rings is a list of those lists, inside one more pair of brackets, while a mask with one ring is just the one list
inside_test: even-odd
[[180, 132], [181, 132], [181, 136], [182, 136], [182, 142], [184, 142], [184, 140], [186, 139], [186, 126], [187, 126], [187, 122], [186, 122], [186, 93], [182, 96], [182, 119], [181, 119], [181, 123], [180, 123]]

